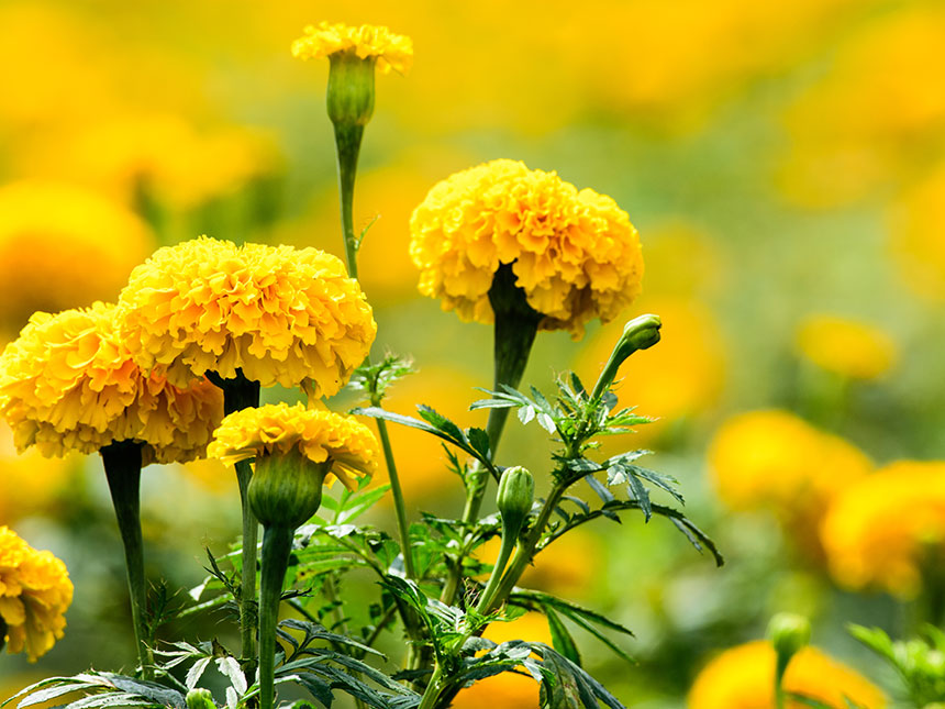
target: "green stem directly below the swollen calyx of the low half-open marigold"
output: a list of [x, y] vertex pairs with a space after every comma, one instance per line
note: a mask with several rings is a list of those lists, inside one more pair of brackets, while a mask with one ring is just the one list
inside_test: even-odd
[[263, 529], [263, 570], [259, 584], [259, 709], [271, 709], [276, 698], [276, 624], [282, 581], [289, 566], [294, 530], [267, 524]]

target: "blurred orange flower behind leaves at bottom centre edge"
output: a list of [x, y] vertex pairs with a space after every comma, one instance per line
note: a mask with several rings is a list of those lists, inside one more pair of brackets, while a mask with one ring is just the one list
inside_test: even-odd
[[[494, 643], [510, 640], [527, 640], [530, 642], [552, 644], [548, 621], [537, 612], [525, 613], [511, 623], [491, 623], [482, 634]], [[520, 668], [521, 669], [521, 668]], [[524, 671], [522, 671], [524, 672]], [[518, 675], [503, 672], [500, 675], [487, 677], [463, 689], [456, 695], [453, 709], [527, 709], [538, 706], [538, 683], [530, 675]]]

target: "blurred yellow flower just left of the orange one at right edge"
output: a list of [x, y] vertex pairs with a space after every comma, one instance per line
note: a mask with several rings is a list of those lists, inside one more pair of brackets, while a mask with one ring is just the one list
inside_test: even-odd
[[815, 558], [818, 525], [831, 499], [872, 472], [852, 443], [779, 410], [732, 417], [715, 432], [708, 455], [727, 507], [770, 510]]

